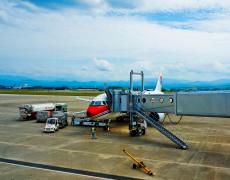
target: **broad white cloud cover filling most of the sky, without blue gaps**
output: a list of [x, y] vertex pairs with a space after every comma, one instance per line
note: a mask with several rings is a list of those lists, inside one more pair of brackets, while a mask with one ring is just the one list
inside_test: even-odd
[[[160, 2], [162, 4], [157, 1], [148, 7], [148, 2], [143, 1], [145, 5], [135, 8], [151, 11], [215, 4], [214, 1], [199, 1], [198, 4], [178, 1], [181, 4], [176, 3], [176, 6], [172, 3], [175, 1]], [[108, 8], [103, 1], [89, 3]], [[229, 7], [227, 1], [216, 3]], [[171, 78], [208, 80], [230, 76], [227, 12], [205, 21], [186, 22], [193, 29], [185, 30], [132, 16], [86, 15], [77, 10], [54, 11], [32, 4], [23, 6], [26, 8], [0, 3], [0, 18], [4, 17], [4, 22], [13, 25], [0, 23], [0, 63], [4, 67], [1, 71], [14, 71], [13, 65], [17, 63], [5, 59], [15, 59], [20, 61], [16, 68], [19, 73], [45, 74], [49, 67], [50, 75], [62, 74], [76, 79], [128, 79], [131, 69], [144, 70], [151, 77], [160, 69]], [[101, 58], [93, 60], [93, 57]], [[39, 63], [31, 65], [35, 61]]]

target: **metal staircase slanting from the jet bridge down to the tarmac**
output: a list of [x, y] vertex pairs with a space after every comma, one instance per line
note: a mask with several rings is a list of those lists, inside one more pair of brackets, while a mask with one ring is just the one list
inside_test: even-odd
[[169, 138], [171, 141], [177, 144], [181, 149], [188, 148], [188, 145], [186, 143], [184, 143], [181, 139], [179, 139], [173, 133], [164, 128], [160, 123], [157, 122], [157, 120], [149, 117], [143, 110], [136, 109], [135, 112], [137, 113], [137, 115], [143, 118], [148, 124], [153, 126], [155, 129], [157, 129], [159, 132], [161, 132], [163, 135], [165, 135], [167, 138]]

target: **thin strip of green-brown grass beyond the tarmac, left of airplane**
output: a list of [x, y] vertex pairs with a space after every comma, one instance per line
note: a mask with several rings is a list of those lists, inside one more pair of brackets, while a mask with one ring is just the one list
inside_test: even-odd
[[97, 96], [103, 91], [98, 90], [7, 90], [0, 89], [0, 94], [24, 94], [24, 95], [53, 95], [53, 96]]

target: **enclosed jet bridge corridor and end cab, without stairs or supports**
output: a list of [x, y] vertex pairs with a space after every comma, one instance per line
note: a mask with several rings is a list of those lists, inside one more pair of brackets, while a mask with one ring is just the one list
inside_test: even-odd
[[230, 91], [177, 92], [174, 94], [144, 95], [118, 89], [109, 91], [114, 112], [132, 111], [130, 106], [146, 112], [176, 115], [230, 117]]

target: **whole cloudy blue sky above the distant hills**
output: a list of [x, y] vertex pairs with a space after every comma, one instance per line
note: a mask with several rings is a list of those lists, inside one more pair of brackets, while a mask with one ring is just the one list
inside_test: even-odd
[[230, 79], [230, 1], [1, 0], [0, 75]]

